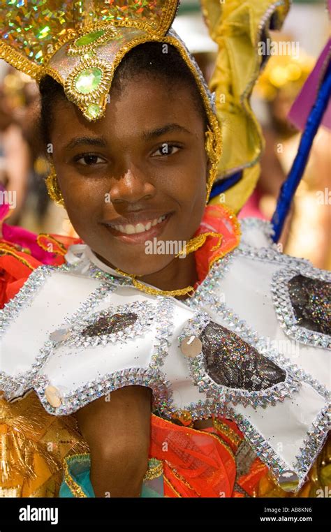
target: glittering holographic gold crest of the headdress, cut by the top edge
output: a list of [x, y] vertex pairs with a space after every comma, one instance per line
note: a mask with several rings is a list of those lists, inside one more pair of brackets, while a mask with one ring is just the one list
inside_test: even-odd
[[[36, 64], [43, 64], [54, 50], [56, 38], [68, 40], [70, 35], [98, 21], [101, 24], [126, 22], [133, 27], [168, 29], [177, 10], [172, 0], [81, 0], [8, 1], [1, 17], [1, 40]], [[31, 15], [33, 13], [33, 15]], [[24, 29], [24, 31], [22, 31]], [[100, 28], [99, 28], [100, 29]]]

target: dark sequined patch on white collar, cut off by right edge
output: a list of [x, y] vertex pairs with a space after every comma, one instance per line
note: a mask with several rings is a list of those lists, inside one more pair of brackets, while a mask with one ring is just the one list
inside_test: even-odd
[[331, 334], [331, 283], [296, 275], [288, 290], [298, 325]]

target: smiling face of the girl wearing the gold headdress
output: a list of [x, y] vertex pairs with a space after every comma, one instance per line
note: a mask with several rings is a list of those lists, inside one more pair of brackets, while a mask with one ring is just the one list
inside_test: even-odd
[[193, 102], [184, 86], [169, 90], [139, 76], [120, 93], [110, 91], [96, 122], [73, 103], [57, 103], [51, 140], [68, 216], [112, 267], [158, 272], [181, 248], [160, 253], [159, 244], [150, 254], [148, 242], [183, 246], [200, 225], [209, 168], [203, 118]]

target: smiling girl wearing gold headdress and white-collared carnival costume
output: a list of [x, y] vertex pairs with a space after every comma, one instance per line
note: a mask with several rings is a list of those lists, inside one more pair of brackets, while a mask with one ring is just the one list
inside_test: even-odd
[[75, 415], [89, 452], [67, 457], [60, 496], [249, 496], [267, 468], [297, 493], [328, 430], [328, 275], [281, 256], [267, 225], [243, 223], [238, 247], [235, 214], [205, 207], [221, 135], [175, 3], [102, 7], [29, 64], [47, 187], [81, 240], [39, 238], [65, 263], [3, 310], [4, 397]]

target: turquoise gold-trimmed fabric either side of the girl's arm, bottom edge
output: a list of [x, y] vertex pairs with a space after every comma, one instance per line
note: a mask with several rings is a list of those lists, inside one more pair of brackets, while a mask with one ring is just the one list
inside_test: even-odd
[[[66, 460], [68, 466], [68, 473], [76, 484], [82, 489], [87, 497], [95, 497], [93, 486], [89, 478], [90, 473], [90, 457], [89, 455], [73, 455]], [[160, 475], [153, 480], [147, 480], [142, 482], [142, 491], [140, 497], [163, 497], [163, 475]], [[71, 489], [68, 487], [64, 480], [61, 484], [59, 497], [74, 497]]]

